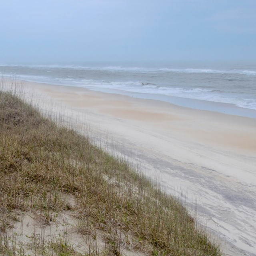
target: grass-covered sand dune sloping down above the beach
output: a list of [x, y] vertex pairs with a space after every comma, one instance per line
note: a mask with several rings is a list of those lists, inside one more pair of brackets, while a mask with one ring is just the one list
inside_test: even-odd
[[182, 204], [0, 91], [0, 255], [219, 256]]

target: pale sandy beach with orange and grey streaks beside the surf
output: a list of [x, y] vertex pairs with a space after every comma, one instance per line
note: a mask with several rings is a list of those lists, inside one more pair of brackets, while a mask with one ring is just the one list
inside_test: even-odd
[[24, 90], [88, 124], [96, 143], [196, 208], [227, 255], [256, 255], [256, 119], [78, 87], [26, 82]]

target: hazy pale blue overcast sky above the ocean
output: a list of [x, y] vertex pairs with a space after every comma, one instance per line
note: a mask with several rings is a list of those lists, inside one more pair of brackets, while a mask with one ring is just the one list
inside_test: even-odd
[[0, 63], [256, 60], [256, 0], [0, 0]]

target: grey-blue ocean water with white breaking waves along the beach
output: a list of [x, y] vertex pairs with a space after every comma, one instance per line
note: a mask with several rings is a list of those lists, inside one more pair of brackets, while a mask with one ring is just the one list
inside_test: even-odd
[[0, 75], [256, 118], [256, 64], [3, 64]]

